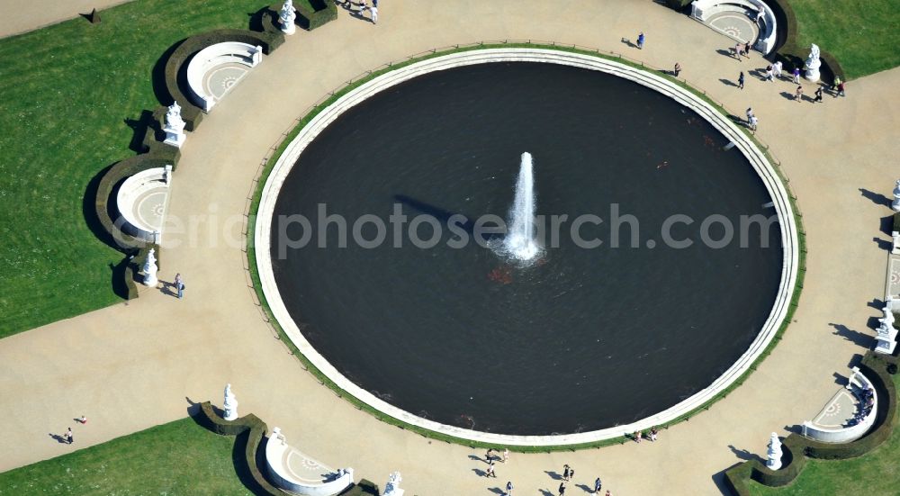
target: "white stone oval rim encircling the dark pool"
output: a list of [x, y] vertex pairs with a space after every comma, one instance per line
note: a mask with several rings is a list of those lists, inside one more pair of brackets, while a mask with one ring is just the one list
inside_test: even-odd
[[[474, 64], [519, 61], [544, 62], [576, 68], [587, 68], [590, 70], [606, 72], [618, 77], [625, 77], [639, 85], [647, 86], [664, 95], [668, 95], [678, 103], [689, 107], [706, 119], [707, 122], [716, 127], [716, 129], [722, 132], [729, 140], [732, 140], [736, 144], [735, 148], [739, 149], [741, 153], [748, 158], [752, 167], [756, 170], [757, 174], [760, 175], [762, 182], [769, 191], [773, 206], [779, 216], [781, 244], [784, 248], [781, 282], [770, 316], [762, 326], [759, 335], [753, 340], [751, 346], [744, 352], [743, 356], [705, 389], [695, 393], [687, 400], [672, 406], [668, 410], [664, 410], [651, 417], [638, 420], [628, 425], [559, 436], [512, 436], [449, 426], [401, 410], [374, 396], [371, 392], [365, 391], [365, 389], [357, 386], [355, 383], [352, 383], [347, 377], [340, 374], [334, 366], [329, 364], [329, 362], [311, 346], [310, 342], [303, 337], [297, 324], [293, 321], [290, 313], [288, 313], [285, 308], [281, 294], [278, 292], [278, 286], [275, 284], [275, 277], [272, 272], [272, 260], [270, 257], [270, 235], [275, 202], [278, 198], [278, 193], [284, 184], [284, 179], [291, 171], [294, 162], [300, 157], [303, 149], [319, 135], [320, 131], [325, 129], [329, 123], [338, 119], [338, 116], [340, 116], [341, 113], [346, 112], [347, 109], [364, 102], [372, 95], [413, 77], [437, 70], [470, 66]], [[649, 429], [653, 426], [659, 426], [670, 422], [691, 410], [697, 409], [707, 401], [712, 400], [718, 392], [723, 391], [731, 383], [734, 383], [736, 379], [750, 368], [754, 360], [761, 355], [763, 350], [769, 345], [771, 339], [774, 338], [775, 334], [778, 332], [779, 326], [788, 312], [790, 299], [794, 293], [794, 286], [797, 283], [799, 255], [796, 219], [794, 218], [794, 212], [788, 199], [788, 192], [784, 185], [782, 185], [778, 173], [770, 165], [761, 150], [756, 147], [752, 140], [749, 140], [743, 131], [739, 130], [734, 122], [731, 122], [725, 115], [722, 115], [710, 104], [707, 104], [698, 96], [693, 95], [689, 91], [676, 85], [671, 80], [655, 76], [645, 70], [632, 68], [619, 62], [589, 55], [560, 50], [532, 48], [470, 50], [451, 53], [434, 59], [422, 60], [410, 64], [409, 66], [398, 68], [387, 74], [383, 74], [382, 76], [375, 77], [373, 80], [356, 87], [347, 93], [347, 95], [340, 97], [337, 102], [329, 105], [328, 108], [316, 115], [311, 122], [300, 131], [297, 137], [291, 141], [287, 148], [284, 149], [282, 156], [278, 158], [275, 167], [272, 169], [271, 174], [266, 180], [266, 185], [263, 188], [263, 193], [260, 198], [254, 239], [257, 250], [257, 269], [259, 272], [260, 284], [262, 285], [263, 293], [266, 296], [266, 302], [268, 302], [269, 308], [275, 315], [275, 319], [278, 320], [288, 338], [293, 341], [293, 344], [300, 350], [303, 356], [305, 356], [311, 364], [316, 366], [323, 374], [327, 375], [332, 382], [336, 383], [340, 389], [352, 394], [358, 400], [364, 401], [367, 405], [394, 419], [401, 420], [419, 428], [427, 428], [447, 436], [461, 437], [501, 446], [560, 446], [591, 443], [602, 439], [621, 437], [635, 432], [636, 430]], [[702, 309], [700, 310], [702, 311]]]

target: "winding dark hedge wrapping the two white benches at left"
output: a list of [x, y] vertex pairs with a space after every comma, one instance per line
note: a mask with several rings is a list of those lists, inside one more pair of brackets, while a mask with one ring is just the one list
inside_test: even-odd
[[[262, 45], [263, 52], [270, 54], [284, 43], [284, 33], [275, 26], [276, 16], [277, 14], [271, 7], [266, 7], [261, 9], [256, 15], [262, 31], [213, 30], [175, 43], [175, 50], [172, 51], [166, 60], [165, 88], [170, 99], [174, 99], [179, 104], [182, 104], [182, 117], [184, 117], [184, 122], [187, 124], [185, 126], [187, 131], [194, 131], [200, 125], [203, 115], [202, 109], [193, 104], [184, 95], [179, 86], [179, 81], [181, 81], [179, 77], [186, 72], [186, 64], [193, 57], [193, 54], [211, 44], [222, 41], [242, 41], [253, 45]], [[161, 254], [157, 245], [150, 244], [143, 239], [137, 239], [122, 231], [116, 225], [111, 215], [111, 212], [118, 212], [118, 206], [115, 204], [113, 194], [124, 179], [142, 170], [171, 165], [172, 170], [175, 171], [178, 167], [181, 150], [157, 140], [157, 132], [161, 132], [160, 130], [165, 124], [166, 110], [166, 106], [157, 107], [153, 112], [154, 123], [148, 126], [141, 140], [140, 155], [126, 158], [110, 167], [101, 177], [97, 186], [96, 198], [94, 199], [94, 212], [97, 220], [108, 235], [107, 239], [102, 239], [103, 242], [121, 250], [125, 254], [125, 258], [122, 260], [122, 264], [125, 265], [125, 270], [122, 271], [122, 277], [124, 278], [122, 283], [127, 292], [124, 296], [129, 300], [138, 297], [138, 285], [135, 282], [135, 275], [143, 266], [149, 249], [156, 249], [157, 266]]]

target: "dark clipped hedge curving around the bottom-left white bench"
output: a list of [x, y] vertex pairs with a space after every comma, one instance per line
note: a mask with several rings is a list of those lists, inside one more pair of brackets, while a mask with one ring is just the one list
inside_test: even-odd
[[[259, 468], [259, 463], [257, 463], [265, 460], [265, 455], [263, 457], [257, 457], [257, 455], [261, 453], [260, 445], [263, 444], [263, 437], [266, 437], [269, 430], [266, 422], [252, 413], [235, 420], [222, 419], [212, 407], [210, 401], [200, 403], [200, 411], [193, 419], [202, 427], [208, 428], [220, 436], [241, 436], [246, 433], [247, 444], [244, 446], [244, 458], [242, 460], [246, 466], [242, 468], [247, 469], [247, 472], [253, 478], [254, 485], [257, 486], [249, 489], [256, 494], [284, 496], [285, 492], [276, 488], [272, 482], [266, 479], [263, 471]], [[341, 492], [341, 496], [364, 496], [367, 494], [378, 496], [379, 491], [377, 485], [365, 479], [355, 483], [347, 491]]]

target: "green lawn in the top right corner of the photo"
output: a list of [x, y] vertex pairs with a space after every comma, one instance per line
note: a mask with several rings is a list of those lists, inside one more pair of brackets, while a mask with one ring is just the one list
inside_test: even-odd
[[798, 44], [829, 51], [848, 78], [900, 66], [896, 0], [790, 0], [790, 5], [797, 14]]

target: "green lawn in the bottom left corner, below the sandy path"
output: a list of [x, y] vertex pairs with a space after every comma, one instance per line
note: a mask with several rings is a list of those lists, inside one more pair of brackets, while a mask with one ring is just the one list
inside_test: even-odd
[[[80, 427], [73, 428], [76, 444], [60, 451], [78, 446]], [[0, 473], [0, 495], [252, 494], [232, 464], [234, 442], [192, 419], [177, 420]]]

